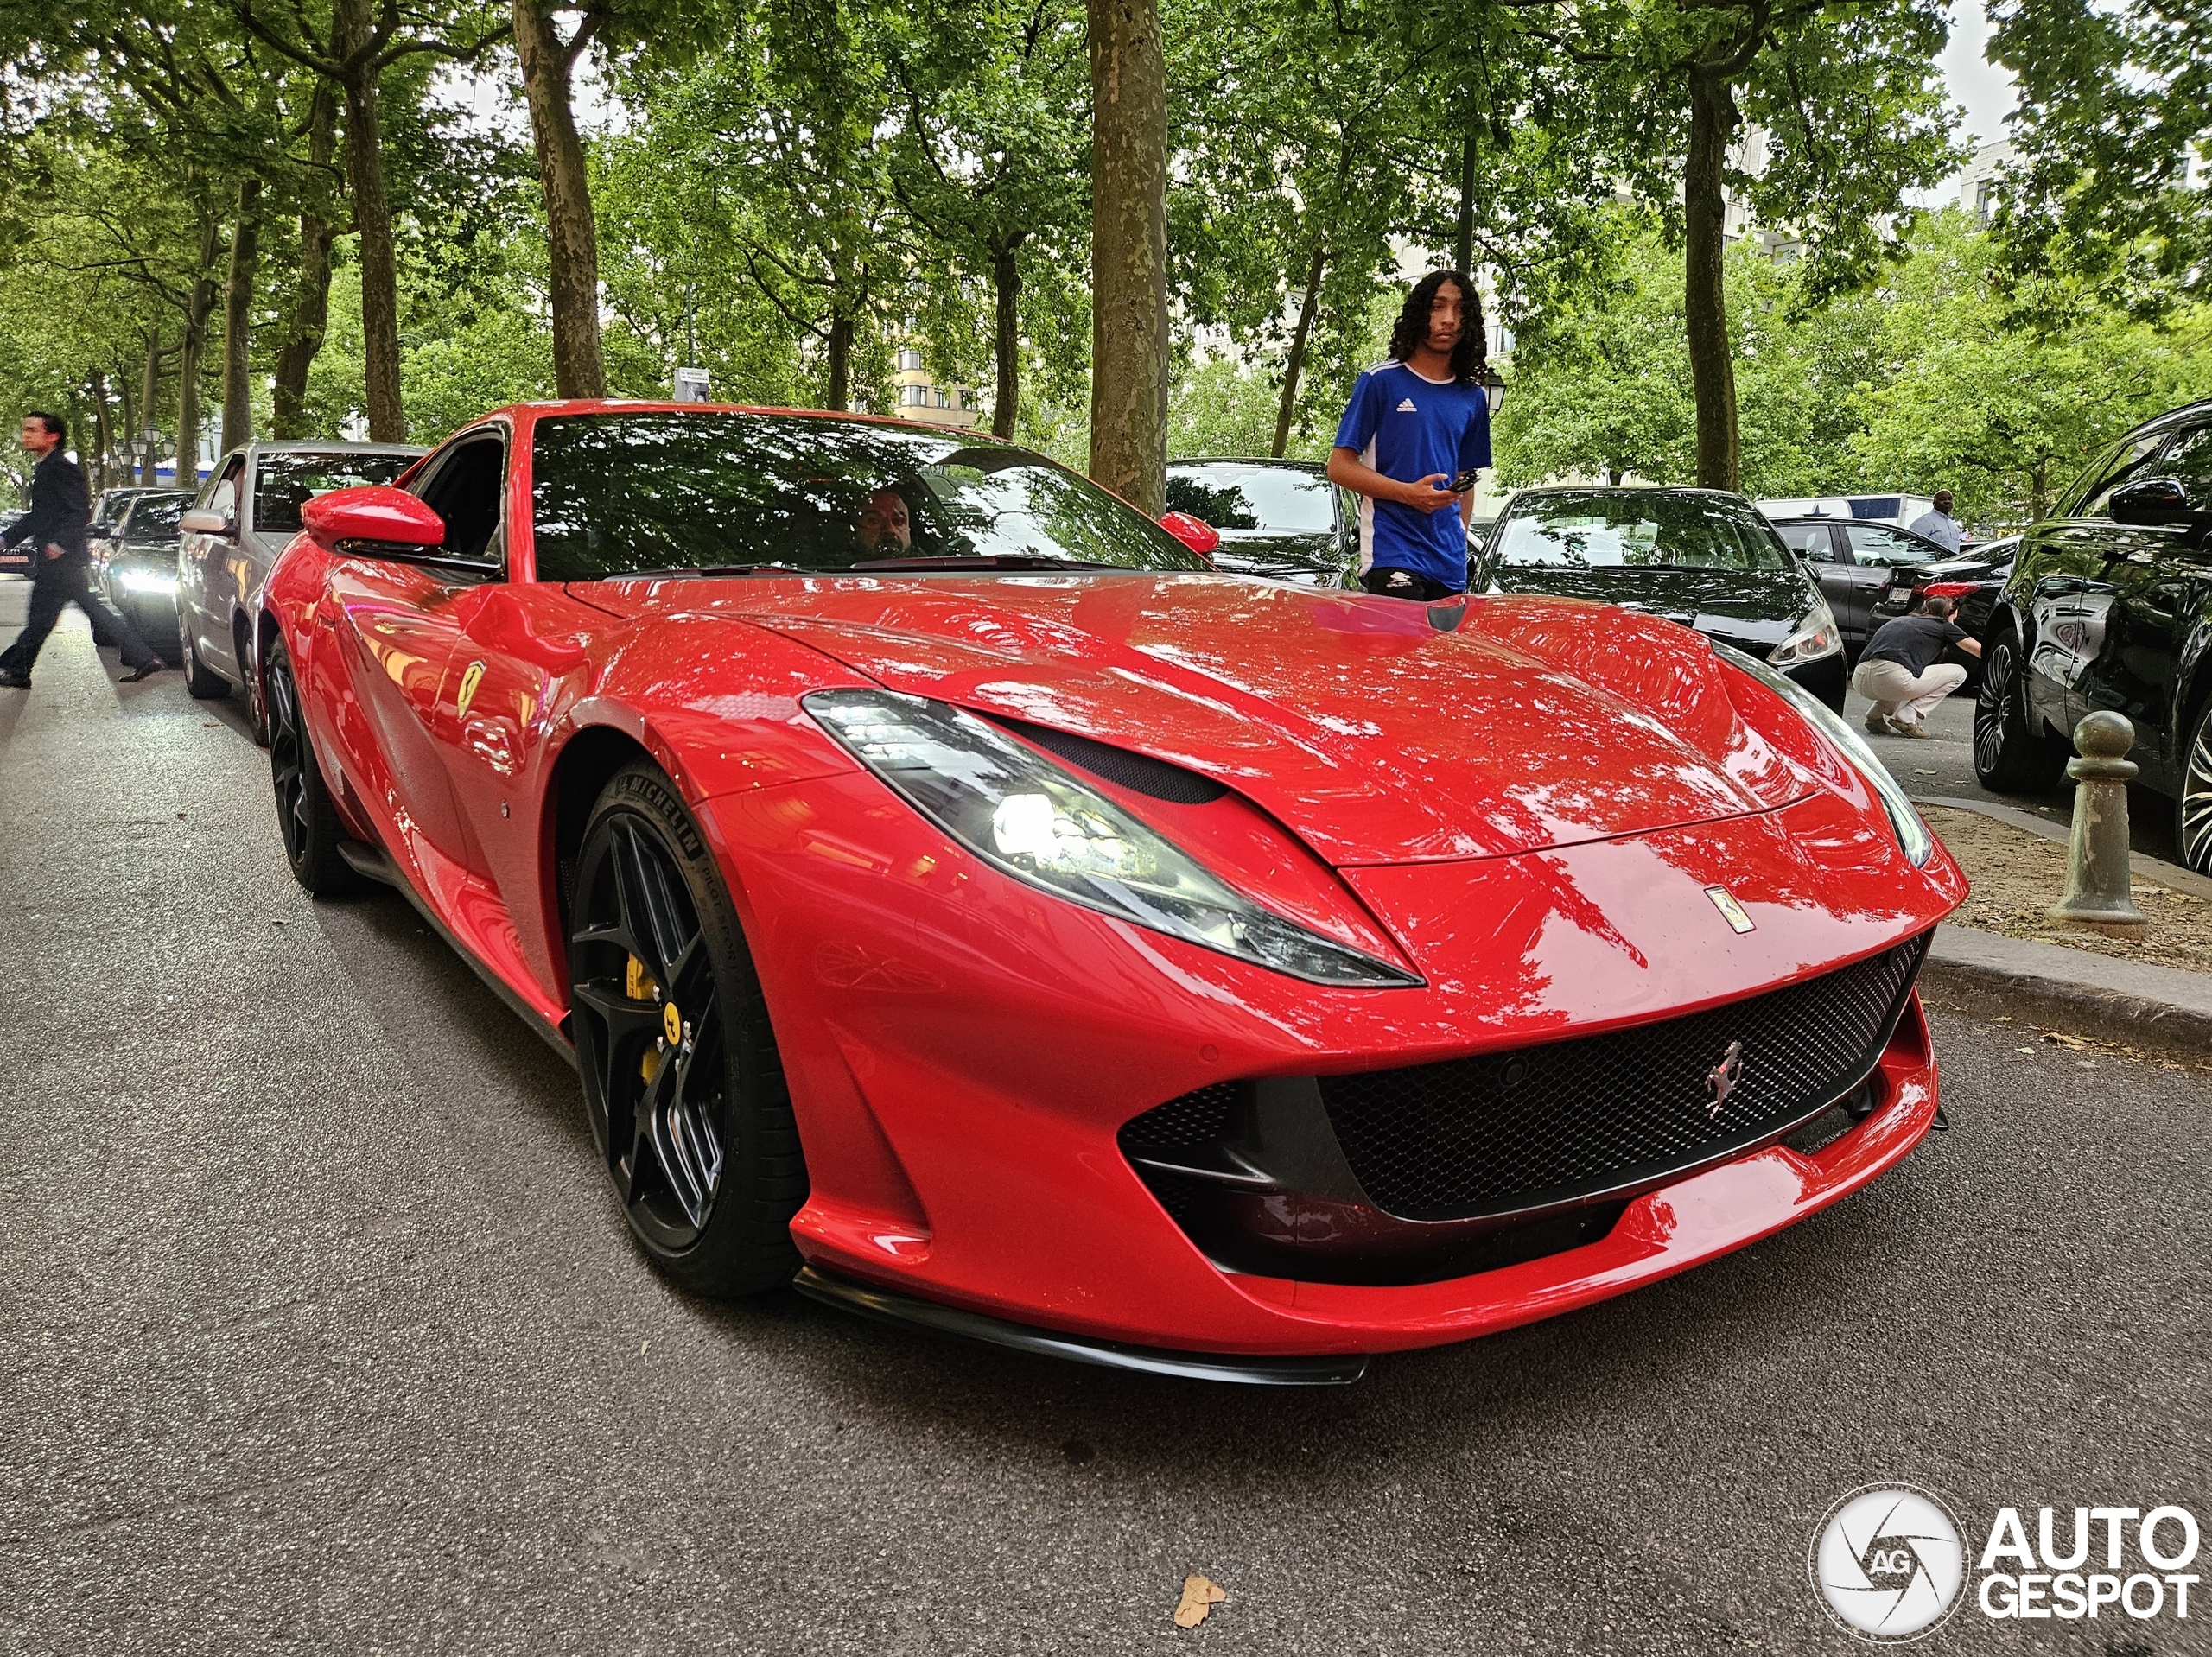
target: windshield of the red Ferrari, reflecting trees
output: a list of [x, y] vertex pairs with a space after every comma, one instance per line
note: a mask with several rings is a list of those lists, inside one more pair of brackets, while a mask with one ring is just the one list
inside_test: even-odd
[[538, 580], [849, 569], [1208, 569], [1044, 456], [792, 414], [562, 414], [531, 447]]

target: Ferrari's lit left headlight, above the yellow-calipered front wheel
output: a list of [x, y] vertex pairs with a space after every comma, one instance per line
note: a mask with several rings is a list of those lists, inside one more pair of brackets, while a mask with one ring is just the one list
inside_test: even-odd
[[816, 690], [805, 708], [914, 810], [1015, 880], [1314, 984], [1422, 982], [1259, 907], [1044, 754], [951, 704]]

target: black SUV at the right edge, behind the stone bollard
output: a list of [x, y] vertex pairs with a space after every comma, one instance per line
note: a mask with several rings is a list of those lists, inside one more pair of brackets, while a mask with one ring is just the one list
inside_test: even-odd
[[2015, 794], [2064, 783], [2073, 728], [2135, 723], [2146, 788], [2212, 872], [2212, 403], [2161, 414], [2097, 456], [2020, 542], [1982, 639], [1973, 770]]

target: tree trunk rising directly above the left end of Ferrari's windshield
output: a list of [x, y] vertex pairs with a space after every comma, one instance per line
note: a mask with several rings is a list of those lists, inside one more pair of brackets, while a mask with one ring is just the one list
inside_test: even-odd
[[538, 0], [513, 0], [515, 55], [538, 139], [538, 181], [546, 204], [549, 299], [553, 310], [553, 383], [562, 396], [606, 396], [599, 354], [599, 237], [591, 212], [584, 144], [568, 102], [573, 58], [553, 33], [553, 13]]

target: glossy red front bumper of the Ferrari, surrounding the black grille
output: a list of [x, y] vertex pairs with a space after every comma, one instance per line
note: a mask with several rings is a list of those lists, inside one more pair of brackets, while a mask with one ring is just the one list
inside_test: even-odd
[[[869, 777], [695, 810], [732, 872], [799, 1113], [801, 1254], [984, 1319], [1254, 1358], [1458, 1341], [1756, 1241], [1874, 1179], [1936, 1111], [1911, 1000], [1871, 1113], [1818, 1150], [1750, 1148], [1628, 1192], [1557, 1252], [1444, 1281], [1232, 1270], [1121, 1155], [1133, 1117], [1225, 1077], [1460, 1060], [1728, 1004], [1927, 931], [1964, 883], [1947, 858], [1913, 872], [1887, 825], [1825, 794], [1626, 841], [1352, 869], [1429, 984], [1332, 991], [1004, 880]], [[1717, 883], [1752, 934], [1719, 920]]]

